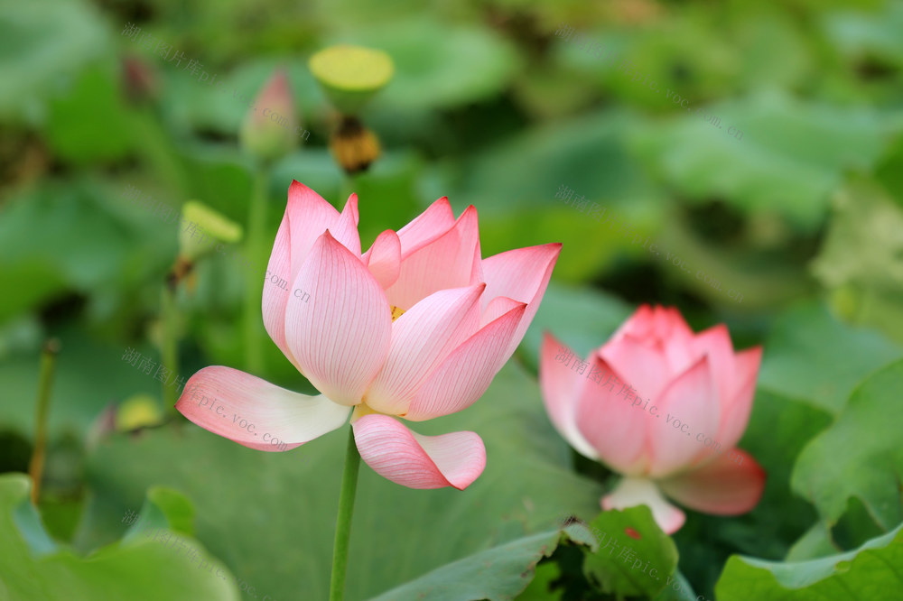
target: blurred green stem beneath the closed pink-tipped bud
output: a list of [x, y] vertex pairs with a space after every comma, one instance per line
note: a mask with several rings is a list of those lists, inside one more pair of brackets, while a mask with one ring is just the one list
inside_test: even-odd
[[[247, 259], [254, 265], [263, 261], [268, 181], [269, 169], [258, 167], [247, 208]], [[245, 283], [245, 365], [252, 374], [260, 374], [263, 368], [263, 338], [260, 336], [260, 326], [264, 320], [261, 314], [263, 280], [262, 277], [248, 277]]]

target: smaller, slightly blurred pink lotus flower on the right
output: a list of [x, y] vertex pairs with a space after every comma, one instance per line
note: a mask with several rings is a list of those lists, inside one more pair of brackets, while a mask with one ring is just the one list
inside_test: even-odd
[[[573, 448], [625, 476], [602, 497], [603, 509], [647, 504], [670, 534], [685, 516], [662, 493], [722, 515], [745, 513], [759, 503], [765, 472], [733, 447], [749, 421], [761, 347], [734, 354], [723, 324], [694, 335], [676, 309], [647, 305], [591, 353], [584, 374], [556, 360], [560, 346], [545, 335], [545, 408]], [[597, 383], [591, 374], [606, 377]], [[609, 382], [610, 375], [619, 382]], [[624, 390], [628, 396], [620, 398]]]

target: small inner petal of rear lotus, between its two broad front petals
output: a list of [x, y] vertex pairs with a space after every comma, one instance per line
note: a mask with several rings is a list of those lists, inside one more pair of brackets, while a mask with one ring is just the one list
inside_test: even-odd
[[658, 402], [659, 395], [673, 374], [661, 350], [627, 332], [612, 337], [597, 351], [597, 356], [637, 390], [637, 395]]

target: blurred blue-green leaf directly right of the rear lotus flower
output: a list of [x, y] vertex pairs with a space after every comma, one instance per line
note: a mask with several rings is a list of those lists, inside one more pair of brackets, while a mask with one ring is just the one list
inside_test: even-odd
[[837, 414], [863, 377], [901, 355], [880, 334], [848, 326], [823, 306], [807, 303], [775, 322], [759, 386]]

